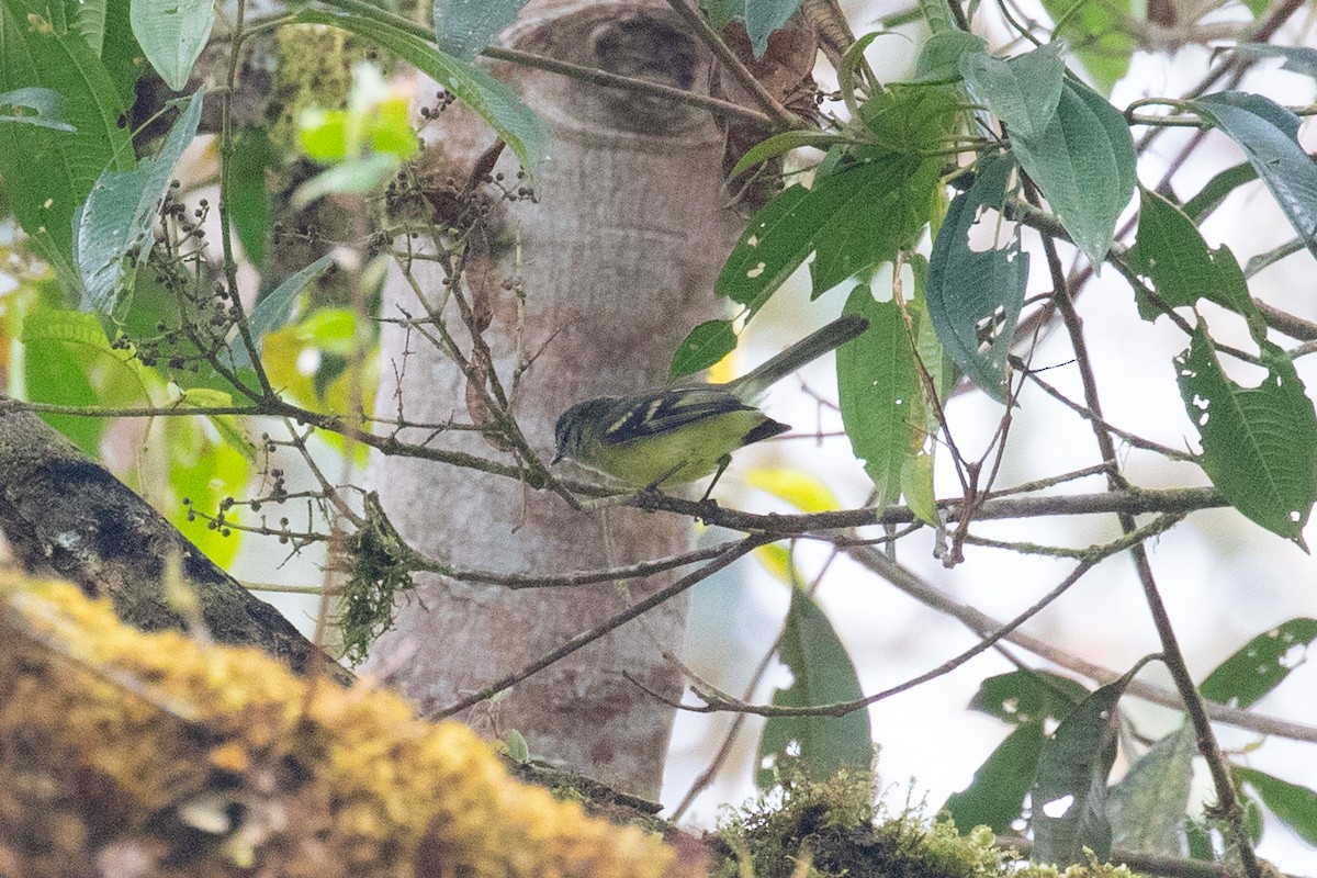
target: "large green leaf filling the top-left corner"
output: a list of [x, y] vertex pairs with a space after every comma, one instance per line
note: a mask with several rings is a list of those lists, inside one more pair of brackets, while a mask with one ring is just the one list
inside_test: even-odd
[[55, 91], [63, 121], [76, 130], [0, 125], [0, 178], [37, 251], [76, 291], [74, 212], [103, 168], [130, 168], [134, 157], [125, 107], [104, 65], [80, 34], [55, 30], [43, 11], [45, 4], [0, 0], [0, 92]]

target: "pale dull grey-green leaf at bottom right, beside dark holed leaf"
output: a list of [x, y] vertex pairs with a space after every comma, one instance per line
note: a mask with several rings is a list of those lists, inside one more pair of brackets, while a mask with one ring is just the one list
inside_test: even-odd
[[1185, 723], [1154, 744], [1109, 790], [1106, 810], [1115, 848], [1180, 856], [1179, 828], [1185, 820], [1197, 754], [1193, 728]]

